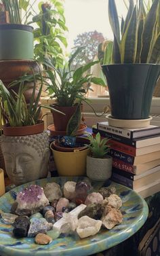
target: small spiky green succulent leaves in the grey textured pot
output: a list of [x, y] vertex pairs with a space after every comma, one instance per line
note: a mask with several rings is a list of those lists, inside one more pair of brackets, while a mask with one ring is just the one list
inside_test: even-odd
[[108, 141], [110, 139], [101, 139], [100, 132], [98, 132], [95, 138], [92, 135], [87, 136], [90, 143], [87, 145], [92, 153], [93, 158], [104, 158], [108, 151], [110, 150], [110, 145]]

